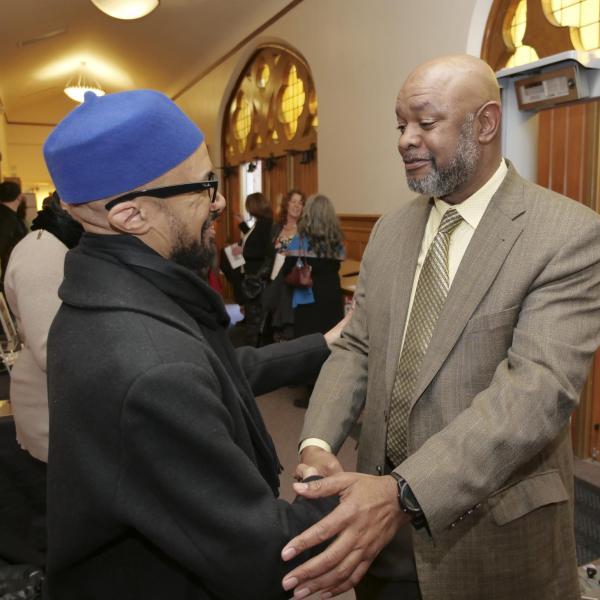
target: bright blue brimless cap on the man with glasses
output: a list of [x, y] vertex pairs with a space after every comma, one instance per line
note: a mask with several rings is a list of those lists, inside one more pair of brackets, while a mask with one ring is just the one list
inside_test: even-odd
[[96, 96], [71, 111], [44, 144], [56, 191], [83, 204], [133, 190], [183, 162], [204, 134], [167, 96], [135, 90]]

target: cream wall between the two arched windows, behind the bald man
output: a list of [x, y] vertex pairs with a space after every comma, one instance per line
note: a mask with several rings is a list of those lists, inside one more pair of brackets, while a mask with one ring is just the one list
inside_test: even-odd
[[489, 1], [304, 0], [177, 102], [204, 130], [220, 164], [225, 103], [246, 61], [265, 43], [294, 48], [317, 90], [320, 191], [340, 213], [382, 213], [413, 196], [396, 150], [402, 81], [435, 56], [474, 53], [485, 25], [477, 16]]

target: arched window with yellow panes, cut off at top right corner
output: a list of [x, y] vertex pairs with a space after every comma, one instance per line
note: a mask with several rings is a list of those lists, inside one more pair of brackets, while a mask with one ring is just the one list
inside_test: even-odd
[[494, 0], [481, 57], [494, 70], [600, 48], [598, 0]]

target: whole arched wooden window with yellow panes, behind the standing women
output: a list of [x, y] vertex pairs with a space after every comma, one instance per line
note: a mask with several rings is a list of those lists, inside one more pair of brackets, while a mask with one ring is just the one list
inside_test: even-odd
[[275, 214], [292, 188], [317, 191], [317, 92], [306, 61], [282, 46], [259, 48], [243, 69], [223, 120], [227, 240], [244, 196], [260, 190]]

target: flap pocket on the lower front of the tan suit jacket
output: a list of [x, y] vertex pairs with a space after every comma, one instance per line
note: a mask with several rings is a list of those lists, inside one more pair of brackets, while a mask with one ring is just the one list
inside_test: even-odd
[[536, 508], [566, 502], [569, 495], [556, 470], [536, 473], [513, 483], [488, 498], [497, 525], [506, 525]]

